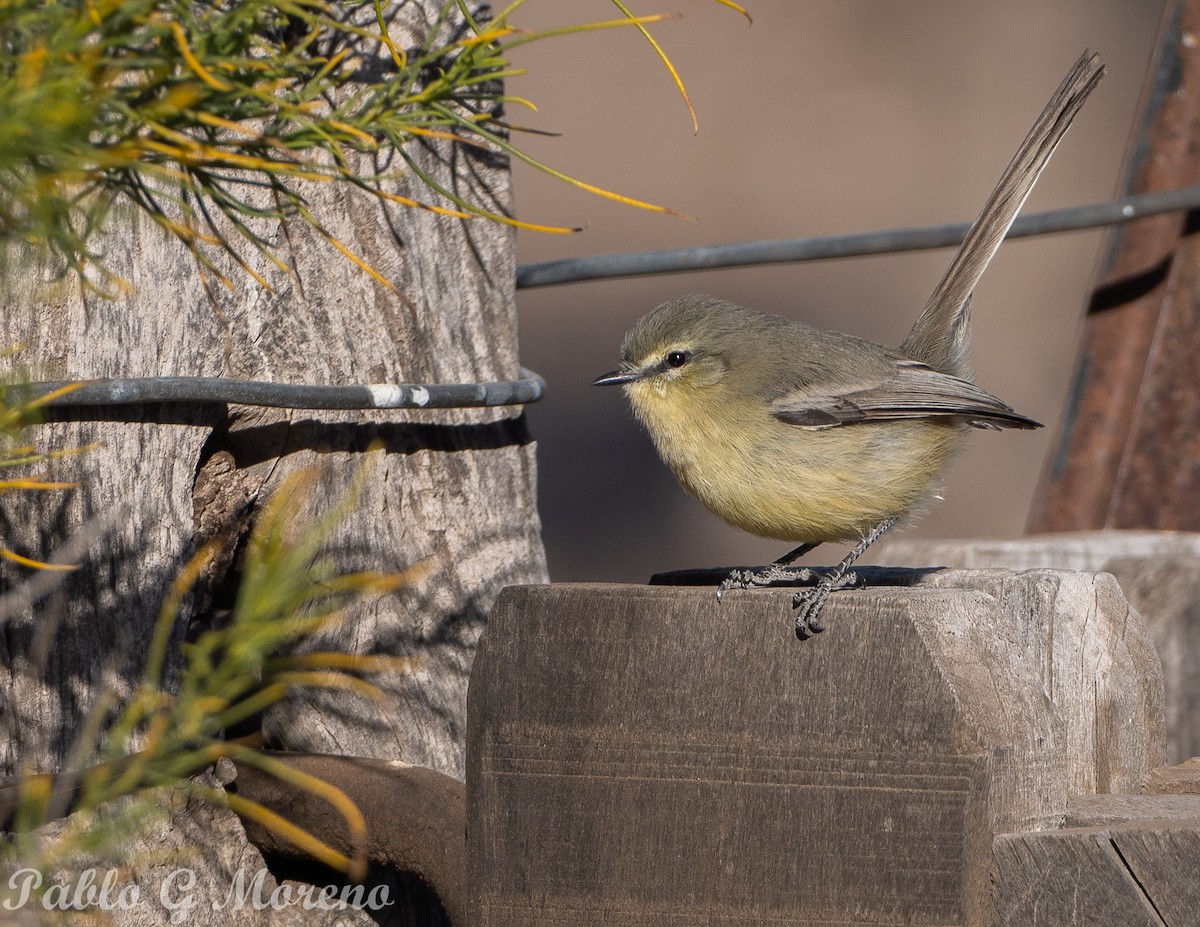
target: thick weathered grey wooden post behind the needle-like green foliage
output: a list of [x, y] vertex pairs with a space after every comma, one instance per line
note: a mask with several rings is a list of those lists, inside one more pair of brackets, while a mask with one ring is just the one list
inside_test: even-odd
[[[468, 6], [485, 12], [481, 4]], [[373, 23], [370, 5], [362, 10]], [[386, 12], [400, 48], [419, 47], [434, 24], [464, 29], [463, 11], [442, 0]], [[386, 59], [388, 50], [364, 40], [358, 54]], [[503, 159], [449, 137], [409, 149], [444, 189], [509, 211]], [[388, 169], [373, 160], [382, 155], [356, 157], [367, 175]], [[428, 187], [396, 161], [392, 192], [430, 199]], [[300, 220], [256, 228], [287, 270], [252, 249], [245, 255], [271, 289], [217, 258], [229, 281], [223, 285], [144, 215], [120, 211], [96, 244], [130, 289], [101, 299], [53, 268], [22, 268], [5, 281], [0, 343], [24, 345], [24, 360], [41, 378], [367, 384], [517, 375], [510, 227], [384, 208], [335, 184], [313, 183], [305, 193], [322, 232]], [[326, 237], [344, 243], [390, 287], [341, 257]], [[77, 491], [6, 510], [6, 544], [44, 555], [92, 519], [112, 524], [53, 597], [6, 624], [0, 688], [8, 775], [67, 764], [100, 694], [136, 684], [164, 591], [187, 556], [217, 545], [212, 568], [180, 614], [176, 640], [228, 608], [239, 546], [263, 501], [289, 474], [317, 468], [310, 508], [319, 512], [366, 465], [355, 509], [332, 544], [338, 566], [427, 569], [398, 593], [358, 606], [324, 644], [416, 656], [420, 669], [376, 676], [388, 695], [382, 706], [347, 693], [296, 695], [268, 714], [265, 732], [287, 749], [401, 759], [462, 776], [467, 680], [487, 614], [503, 586], [546, 579], [533, 444], [520, 409], [116, 407], [41, 426], [37, 439], [49, 450], [98, 448], [71, 464], [66, 476], [80, 482]]]

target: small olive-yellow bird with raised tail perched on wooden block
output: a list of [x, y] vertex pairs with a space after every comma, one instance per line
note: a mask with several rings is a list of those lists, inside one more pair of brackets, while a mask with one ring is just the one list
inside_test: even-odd
[[1050, 98], [899, 348], [689, 295], [642, 317], [618, 370], [683, 488], [728, 524], [799, 544], [719, 587], [808, 580], [788, 568], [824, 542], [853, 550], [798, 592], [796, 632], [823, 626], [854, 561], [932, 492], [966, 427], [1034, 429], [972, 382], [971, 294], [1104, 67], [1085, 52]]

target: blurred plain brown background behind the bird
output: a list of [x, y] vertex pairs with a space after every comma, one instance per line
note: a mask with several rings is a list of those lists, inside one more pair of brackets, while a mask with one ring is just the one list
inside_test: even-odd
[[[538, 113], [517, 124], [534, 156], [572, 177], [695, 216], [610, 203], [517, 163], [517, 214], [586, 226], [520, 233], [518, 261], [828, 235], [973, 219], [1079, 53], [1108, 76], [1076, 118], [1027, 210], [1108, 199], [1162, 14], [1159, 0], [641, 0], [683, 13], [652, 26], [686, 83], [700, 132], [649, 46], [631, 29], [538, 42], [509, 82]], [[527, 2], [514, 22], [553, 28], [616, 18], [606, 0]], [[1104, 232], [1006, 244], [973, 301], [982, 387], [1045, 423], [972, 432], [943, 501], [910, 537], [1020, 534], [1055, 435]], [[556, 581], [642, 582], [659, 570], [764, 563], [786, 544], [726, 526], [680, 490], [616, 388], [625, 330], [676, 295], [710, 293], [899, 345], [949, 251], [742, 268], [524, 289], [522, 361], [548, 382], [528, 409], [539, 507]], [[836, 562], [826, 546], [809, 562]]]

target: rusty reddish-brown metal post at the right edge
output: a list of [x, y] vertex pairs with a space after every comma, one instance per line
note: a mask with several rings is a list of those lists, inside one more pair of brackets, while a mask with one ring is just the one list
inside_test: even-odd
[[[1123, 192], [1200, 180], [1200, 0], [1168, 5]], [[1200, 530], [1200, 216], [1118, 227], [1030, 531]]]

